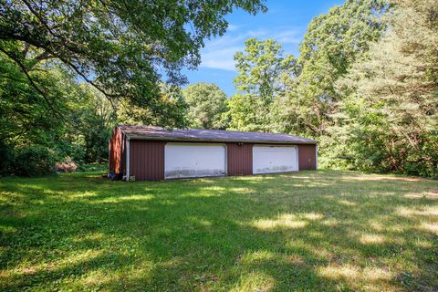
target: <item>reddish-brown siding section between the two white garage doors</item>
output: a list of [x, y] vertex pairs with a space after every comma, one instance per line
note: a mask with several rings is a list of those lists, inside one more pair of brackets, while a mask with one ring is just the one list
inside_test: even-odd
[[253, 173], [253, 144], [226, 143], [226, 157], [228, 175]]

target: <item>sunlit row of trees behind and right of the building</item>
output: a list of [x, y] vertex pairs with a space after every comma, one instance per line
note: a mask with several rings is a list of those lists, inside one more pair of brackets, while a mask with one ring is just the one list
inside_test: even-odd
[[235, 63], [220, 127], [314, 138], [326, 167], [437, 177], [436, 1], [346, 1], [311, 21], [299, 57], [250, 38]]

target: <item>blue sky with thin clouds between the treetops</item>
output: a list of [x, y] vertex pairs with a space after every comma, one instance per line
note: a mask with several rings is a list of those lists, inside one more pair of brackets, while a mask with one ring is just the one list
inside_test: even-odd
[[201, 51], [202, 63], [197, 70], [185, 70], [190, 83], [212, 82], [228, 96], [235, 93], [236, 76], [234, 55], [242, 51], [245, 39], [273, 38], [283, 45], [285, 54], [298, 55], [298, 45], [314, 16], [328, 12], [343, 0], [267, 0], [268, 11], [251, 16], [235, 11], [226, 17], [229, 22], [224, 36], [207, 40]]

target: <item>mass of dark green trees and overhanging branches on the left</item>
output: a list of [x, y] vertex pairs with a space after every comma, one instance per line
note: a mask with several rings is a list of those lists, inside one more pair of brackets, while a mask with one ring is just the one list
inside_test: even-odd
[[0, 172], [22, 148], [103, 162], [116, 123], [185, 127], [180, 70], [199, 64], [204, 38], [223, 35], [235, 8], [266, 10], [263, 0], [0, 0]]

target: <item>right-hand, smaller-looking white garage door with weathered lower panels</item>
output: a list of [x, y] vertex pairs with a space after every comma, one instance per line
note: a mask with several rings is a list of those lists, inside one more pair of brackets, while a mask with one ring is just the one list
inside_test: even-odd
[[298, 170], [296, 146], [253, 147], [253, 173], [295, 172]]

